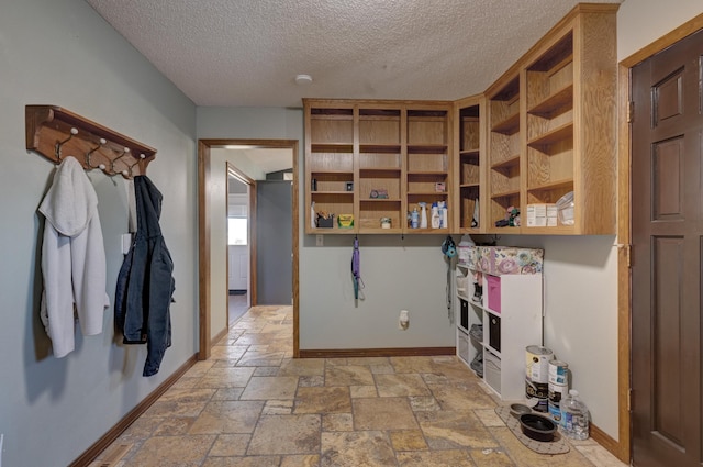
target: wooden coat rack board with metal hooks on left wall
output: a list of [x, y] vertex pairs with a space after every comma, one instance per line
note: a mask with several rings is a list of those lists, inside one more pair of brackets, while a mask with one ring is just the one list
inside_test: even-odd
[[75, 157], [86, 169], [125, 178], [146, 174], [156, 149], [56, 105], [26, 105], [26, 148], [59, 164]]

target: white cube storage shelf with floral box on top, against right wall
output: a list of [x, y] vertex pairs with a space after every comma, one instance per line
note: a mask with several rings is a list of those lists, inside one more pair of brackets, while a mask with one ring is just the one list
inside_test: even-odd
[[468, 260], [457, 264], [457, 354], [502, 400], [524, 399], [525, 349], [543, 337], [544, 251], [470, 248]]

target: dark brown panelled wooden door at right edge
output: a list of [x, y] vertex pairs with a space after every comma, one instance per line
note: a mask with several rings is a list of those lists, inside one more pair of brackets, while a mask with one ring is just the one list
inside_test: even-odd
[[702, 462], [703, 32], [633, 68], [633, 464]]

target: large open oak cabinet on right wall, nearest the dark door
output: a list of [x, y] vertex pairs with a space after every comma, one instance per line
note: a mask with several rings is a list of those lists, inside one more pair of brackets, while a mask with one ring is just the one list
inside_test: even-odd
[[[579, 4], [487, 91], [487, 232], [613, 234], [616, 225], [616, 4]], [[517, 112], [517, 114], [515, 114]], [[573, 193], [573, 223], [528, 225]], [[510, 207], [520, 227], [496, 227]]]

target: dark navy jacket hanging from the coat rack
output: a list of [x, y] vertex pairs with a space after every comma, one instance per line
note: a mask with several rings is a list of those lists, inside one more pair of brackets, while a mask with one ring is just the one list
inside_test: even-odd
[[158, 220], [163, 196], [145, 175], [134, 177], [136, 233], [118, 276], [114, 316], [125, 344], [147, 346], [143, 376], [158, 373], [171, 345], [174, 262]]

